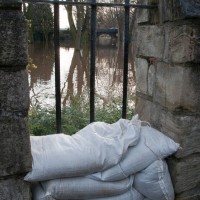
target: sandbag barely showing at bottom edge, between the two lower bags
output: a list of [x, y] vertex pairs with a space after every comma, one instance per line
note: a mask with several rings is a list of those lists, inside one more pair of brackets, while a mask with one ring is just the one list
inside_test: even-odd
[[124, 194], [90, 200], [144, 200], [144, 196], [132, 187], [129, 191], [127, 191]]

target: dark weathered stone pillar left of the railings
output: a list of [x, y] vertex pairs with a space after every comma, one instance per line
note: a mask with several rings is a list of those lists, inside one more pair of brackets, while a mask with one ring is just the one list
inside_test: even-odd
[[27, 60], [21, 1], [0, 0], [0, 200], [31, 199]]

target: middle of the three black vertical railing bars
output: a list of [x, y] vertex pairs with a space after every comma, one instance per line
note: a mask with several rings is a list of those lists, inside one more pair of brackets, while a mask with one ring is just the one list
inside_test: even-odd
[[96, 48], [96, 0], [91, 4], [90, 39], [90, 122], [95, 121], [95, 48]]

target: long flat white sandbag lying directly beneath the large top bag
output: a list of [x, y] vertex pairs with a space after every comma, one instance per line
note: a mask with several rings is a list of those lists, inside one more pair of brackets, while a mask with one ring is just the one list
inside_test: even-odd
[[41, 182], [45, 196], [55, 199], [91, 199], [109, 197], [127, 192], [132, 188], [133, 177], [116, 182], [103, 182], [86, 177], [55, 179]]

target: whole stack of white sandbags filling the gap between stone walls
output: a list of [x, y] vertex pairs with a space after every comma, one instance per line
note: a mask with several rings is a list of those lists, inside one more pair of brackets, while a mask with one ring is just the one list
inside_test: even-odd
[[173, 200], [165, 158], [179, 145], [134, 117], [72, 136], [32, 136], [34, 200]]

